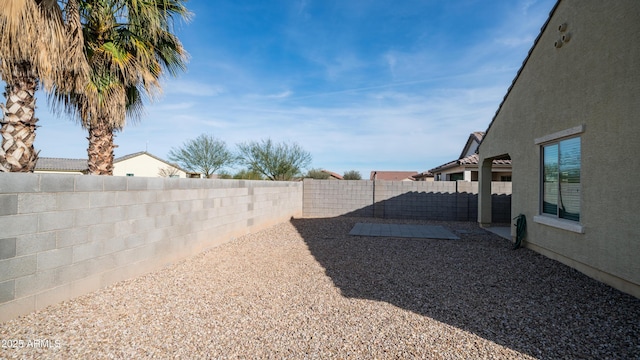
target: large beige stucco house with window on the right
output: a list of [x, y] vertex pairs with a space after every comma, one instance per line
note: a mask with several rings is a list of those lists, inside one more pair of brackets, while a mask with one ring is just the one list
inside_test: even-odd
[[636, 297], [639, 63], [640, 1], [559, 0], [480, 145], [478, 196], [488, 226], [493, 160], [510, 158], [524, 244]]

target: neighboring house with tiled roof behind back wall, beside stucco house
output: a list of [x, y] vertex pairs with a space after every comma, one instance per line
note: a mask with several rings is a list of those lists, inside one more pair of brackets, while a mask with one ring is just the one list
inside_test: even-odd
[[[478, 181], [478, 145], [484, 132], [476, 131], [469, 135], [457, 160], [435, 167], [428, 172], [435, 181]], [[493, 163], [492, 181], [511, 181], [511, 160], [496, 159]]]

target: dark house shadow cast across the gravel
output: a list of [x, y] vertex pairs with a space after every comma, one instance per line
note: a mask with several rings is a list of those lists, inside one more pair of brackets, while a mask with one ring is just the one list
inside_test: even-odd
[[346, 297], [385, 301], [537, 358], [640, 358], [640, 299], [511, 250], [473, 223], [434, 222], [472, 231], [424, 240], [349, 236], [356, 222], [393, 221], [291, 220]]

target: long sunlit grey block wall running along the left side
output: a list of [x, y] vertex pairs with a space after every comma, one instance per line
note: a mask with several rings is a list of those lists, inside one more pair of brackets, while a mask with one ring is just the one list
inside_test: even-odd
[[0, 321], [302, 215], [302, 183], [0, 173]]

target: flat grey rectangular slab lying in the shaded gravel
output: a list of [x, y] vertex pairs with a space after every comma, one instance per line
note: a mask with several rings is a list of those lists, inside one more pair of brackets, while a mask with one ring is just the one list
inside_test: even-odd
[[356, 223], [353, 229], [351, 229], [351, 231], [349, 232], [349, 235], [418, 239], [460, 239], [454, 233], [439, 225]]

